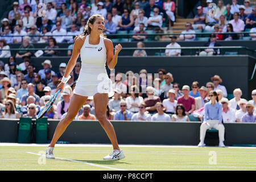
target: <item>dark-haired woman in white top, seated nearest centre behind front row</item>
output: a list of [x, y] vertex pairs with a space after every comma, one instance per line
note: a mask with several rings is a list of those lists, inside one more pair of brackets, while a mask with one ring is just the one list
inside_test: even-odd
[[136, 85], [130, 86], [131, 96], [126, 97], [125, 102], [127, 109], [132, 113], [137, 113], [139, 111], [139, 104], [143, 102], [143, 98], [139, 96], [139, 88]]

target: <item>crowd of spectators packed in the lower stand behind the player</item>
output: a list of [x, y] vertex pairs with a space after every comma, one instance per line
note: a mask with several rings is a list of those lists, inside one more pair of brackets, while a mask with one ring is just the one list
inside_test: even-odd
[[[30, 60], [24, 63], [25, 69], [16, 67], [15, 57], [10, 56], [8, 64], [0, 62], [0, 117], [35, 118], [40, 108], [56, 92], [67, 64], [59, 65], [59, 72], [51, 70], [51, 60], [42, 63], [42, 69], [36, 71]], [[69, 109], [73, 89], [79, 76], [81, 63], [77, 62], [67, 85], [57, 98], [57, 102], [48, 111], [46, 117], [61, 119]], [[204, 121], [204, 106], [210, 102], [209, 93], [216, 92], [222, 106], [222, 121], [256, 122], [256, 90], [251, 93], [252, 100], [242, 98], [242, 90], [228, 93], [222, 79], [214, 75], [210, 82], [201, 85], [193, 81], [191, 86], [174, 82], [171, 73], [158, 70], [158, 77], [148, 74], [146, 69], [139, 73], [110, 73], [114, 96], [109, 98], [106, 115], [114, 120], [131, 121]], [[76, 116], [76, 119], [97, 119], [94, 113], [93, 97], [89, 97]], [[194, 120], [195, 121], [195, 120]]]

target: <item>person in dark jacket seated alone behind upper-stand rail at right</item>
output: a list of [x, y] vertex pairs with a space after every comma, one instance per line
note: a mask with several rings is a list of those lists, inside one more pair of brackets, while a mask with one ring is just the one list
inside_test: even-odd
[[210, 41], [204, 44], [204, 47], [209, 47], [207, 49], [204, 49], [204, 51], [201, 51], [199, 53], [199, 56], [212, 56], [212, 55], [220, 55], [220, 49], [214, 49], [213, 47], [220, 47], [221, 45], [216, 42], [216, 35], [211, 34], [210, 35]]

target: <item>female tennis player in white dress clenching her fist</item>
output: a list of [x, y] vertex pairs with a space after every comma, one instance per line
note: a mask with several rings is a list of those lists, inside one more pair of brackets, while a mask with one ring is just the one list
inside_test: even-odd
[[55, 159], [53, 155], [55, 143], [76, 117], [88, 96], [93, 96], [96, 117], [113, 145], [113, 152], [105, 156], [104, 159], [118, 160], [125, 158], [123, 151], [118, 146], [114, 127], [106, 118], [108, 98], [112, 97], [114, 92], [112, 81], [106, 72], [105, 63], [107, 61], [110, 70], [114, 69], [117, 64], [118, 53], [121, 51], [122, 46], [118, 44], [113, 51], [112, 41], [101, 36], [104, 31], [104, 20], [101, 15], [90, 16], [84, 28], [84, 34], [75, 38], [71, 59], [69, 59], [64, 77], [57, 86], [57, 90], [63, 90], [79, 55], [81, 57], [82, 68], [77, 79], [76, 87], [73, 90], [73, 97], [68, 113], [57, 125], [52, 141], [47, 147], [47, 159]]

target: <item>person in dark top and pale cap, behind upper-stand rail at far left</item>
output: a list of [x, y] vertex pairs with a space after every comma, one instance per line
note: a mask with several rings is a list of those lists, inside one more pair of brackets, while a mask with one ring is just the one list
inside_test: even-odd
[[[22, 44], [20, 45], [19, 49], [34, 49], [33, 44], [30, 43], [30, 37], [29, 36], [24, 36]], [[35, 51], [32, 50], [20, 50], [16, 53], [15, 57], [23, 57], [23, 56], [29, 56], [31, 57], [34, 55]]]

